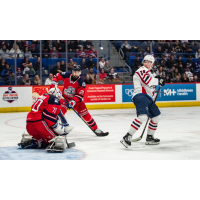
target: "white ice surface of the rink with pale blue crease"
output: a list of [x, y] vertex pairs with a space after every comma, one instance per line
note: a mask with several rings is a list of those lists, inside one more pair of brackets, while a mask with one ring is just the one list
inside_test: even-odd
[[[76, 147], [63, 153], [44, 149], [19, 149], [27, 113], [1, 113], [0, 160], [198, 160], [200, 159], [200, 107], [161, 108], [162, 118], [155, 136], [159, 145], [145, 145], [146, 134], [126, 149], [120, 140], [136, 116], [135, 109], [90, 110], [107, 137], [97, 137], [73, 112], [66, 114], [74, 130], [68, 142]], [[144, 126], [144, 125], [143, 125]], [[143, 126], [134, 135], [139, 137]]]

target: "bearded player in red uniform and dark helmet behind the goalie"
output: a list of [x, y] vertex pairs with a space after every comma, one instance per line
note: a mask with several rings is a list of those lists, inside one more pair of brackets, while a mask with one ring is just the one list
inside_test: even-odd
[[[69, 103], [69, 107], [73, 107], [79, 113], [79, 115], [87, 122], [87, 124], [91, 127], [91, 129], [97, 136], [107, 136], [109, 133], [104, 133], [98, 128], [96, 122], [86, 108], [86, 105], [83, 101], [86, 84], [84, 80], [80, 77], [80, 74], [80, 65], [74, 65], [72, 68], [72, 73], [57, 73], [52, 80], [50, 88], [54, 88], [56, 82], [63, 80], [64, 88], [62, 94], [65, 100]], [[62, 104], [64, 104], [64, 102], [62, 102]]]

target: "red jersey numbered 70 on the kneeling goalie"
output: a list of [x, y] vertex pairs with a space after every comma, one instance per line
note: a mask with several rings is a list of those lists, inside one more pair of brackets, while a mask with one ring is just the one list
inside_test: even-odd
[[44, 120], [49, 127], [57, 123], [57, 116], [60, 113], [60, 100], [51, 95], [43, 94], [35, 101], [28, 113], [26, 121], [36, 122]]

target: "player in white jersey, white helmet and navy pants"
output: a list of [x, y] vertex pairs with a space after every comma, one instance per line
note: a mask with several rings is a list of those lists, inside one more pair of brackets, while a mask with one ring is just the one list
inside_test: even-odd
[[134, 92], [132, 101], [136, 106], [137, 117], [133, 120], [128, 133], [123, 137], [121, 143], [128, 148], [131, 146], [133, 134], [140, 128], [142, 123], [150, 118], [146, 144], [159, 144], [160, 140], [154, 138], [158, 126], [160, 110], [154, 102], [156, 85], [164, 86], [164, 78], [155, 77], [151, 73], [154, 57], [147, 55], [142, 61], [143, 65], [133, 76]]

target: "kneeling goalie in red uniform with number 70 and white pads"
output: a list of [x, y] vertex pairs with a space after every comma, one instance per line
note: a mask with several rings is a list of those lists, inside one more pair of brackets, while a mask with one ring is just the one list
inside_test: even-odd
[[[44, 148], [51, 151], [64, 151], [67, 147], [65, 135], [72, 127], [65, 120], [60, 105], [61, 92], [49, 90], [41, 95], [31, 107], [27, 115], [26, 129], [30, 134], [23, 134], [18, 145], [22, 148]], [[58, 121], [61, 121], [60, 124]]]

